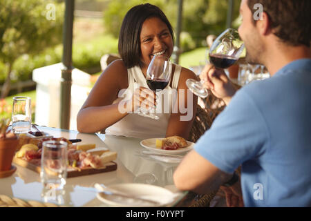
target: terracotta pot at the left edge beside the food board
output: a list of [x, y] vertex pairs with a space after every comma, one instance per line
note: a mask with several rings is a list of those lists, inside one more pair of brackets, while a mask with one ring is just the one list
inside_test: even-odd
[[17, 144], [19, 144], [17, 137], [0, 140], [0, 171], [9, 171], [11, 169]]

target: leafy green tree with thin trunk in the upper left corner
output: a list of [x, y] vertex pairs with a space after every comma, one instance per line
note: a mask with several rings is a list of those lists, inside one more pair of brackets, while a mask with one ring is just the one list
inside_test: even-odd
[[23, 54], [36, 54], [62, 42], [64, 3], [0, 1], [0, 60], [8, 66], [1, 97], [10, 91], [12, 66]]

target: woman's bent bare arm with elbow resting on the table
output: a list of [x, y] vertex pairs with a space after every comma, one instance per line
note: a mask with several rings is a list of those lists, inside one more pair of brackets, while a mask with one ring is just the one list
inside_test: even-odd
[[100, 75], [77, 114], [77, 130], [95, 133], [125, 117], [127, 113], [120, 113], [119, 104], [113, 104], [113, 101], [117, 99], [120, 89], [127, 87], [127, 82], [123, 61], [113, 61]]

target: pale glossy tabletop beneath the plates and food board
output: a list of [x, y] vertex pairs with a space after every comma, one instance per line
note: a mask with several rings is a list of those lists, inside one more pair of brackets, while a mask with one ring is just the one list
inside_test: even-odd
[[[162, 186], [174, 193], [180, 193], [180, 197], [169, 206], [174, 206], [187, 195], [187, 191], [180, 192], [173, 184], [173, 171], [177, 164], [168, 164], [136, 156], [137, 151], [145, 150], [140, 146], [140, 139], [104, 135], [100, 133], [79, 133], [59, 128], [38, 126], [40, 131], [50, 133], [54, 137], [65, 137], [67, 139], [82, 139], [82, 143], [96, 144], [97, 147], [106, 147], [117, 152], [117, 170], [95, 175], [84, 175], [80, 177], [67, 178], [63, 193], [57, 195], [52, 203], [64, 206], [108, 206], [96, 198], [96, 193], [84, 191], [80, 186], [93, 187], [95, 183], [111, 184], [121, 183], [149, 183]], [[10, 177], [0, 179], [0, 195], [8, 195], [10, 198], [22, 200], [35, 200], [39, 202], [51, 202], [47, 198], [40, 182], [39, 173], [17, 166], [17, 171]]]

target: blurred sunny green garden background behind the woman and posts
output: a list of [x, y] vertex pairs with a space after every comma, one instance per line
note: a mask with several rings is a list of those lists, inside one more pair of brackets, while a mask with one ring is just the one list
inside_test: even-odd
[[[173, 28], [178, 26], [178, 0], [75, 0], [73, 66], [90, 77], [102, 73], [103, 55], [117, 54], [122, 19], [139, 3], [159, 6]], [[179, 64], [198, 66], [207, 60], [207, 36], [227, 28], [227, 0], [183, 0]], [[238, 28], [241, 0], [233, 1], [232, 23]], [[0, 116], [10, 115], [12, 96], [32, 97], [35, 122], [36, 84], [32, 71], [62, 61], [64, 0], [0, 1]]]

